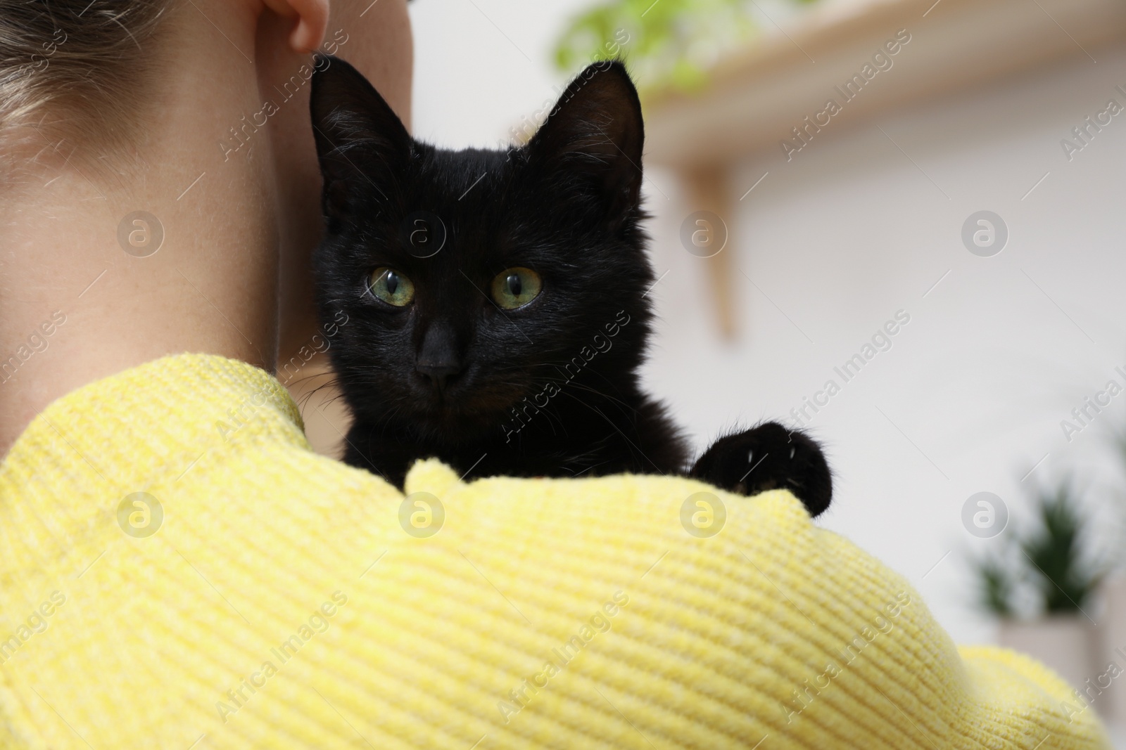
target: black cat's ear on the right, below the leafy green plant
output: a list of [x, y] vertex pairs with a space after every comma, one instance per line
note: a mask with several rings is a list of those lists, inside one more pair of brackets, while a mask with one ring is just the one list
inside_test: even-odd
[[578, 188], [592, 190], [605, 207], [609, 225], [619, 226], [641, 205], [644, 142], [637, 89], [625, 65], [604, 60], [571, 81], [528, 143], [528, 155], [538, 169], [578, 178]]

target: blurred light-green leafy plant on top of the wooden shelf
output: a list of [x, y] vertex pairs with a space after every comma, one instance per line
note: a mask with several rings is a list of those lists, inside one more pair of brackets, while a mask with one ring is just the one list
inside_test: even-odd
[[573, 72], [588, 62], [626, 56], [643, 89], [695, 89], [721, 53], [753, 38], [754, 6], [753, 0], [605, 0], [566, 27], [555, 63]]

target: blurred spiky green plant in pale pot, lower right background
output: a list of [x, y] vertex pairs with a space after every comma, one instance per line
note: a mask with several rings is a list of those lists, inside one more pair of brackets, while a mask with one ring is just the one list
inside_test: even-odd
[[1039, 659], [1078, 688], [1096, 671], [1088, 612], [1102, 566], [1085, 550], [1071, 482], [1038, 490], [1035, 509], [1030, 531], [1001, 537], [998, 554], [973, 563], [978, 603], [1000, 621], [1001, 645]]

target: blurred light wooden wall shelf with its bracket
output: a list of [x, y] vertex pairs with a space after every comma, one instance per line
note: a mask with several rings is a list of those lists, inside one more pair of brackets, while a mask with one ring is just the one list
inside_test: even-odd
[[[911, 40], [890, 56], [855, 97], [837, 90], [906, 29]], [[829, 99], [841, 103], [838, 119], [855, 126], [892, 107], [1011, 75], [1057, 58], [1091, 58], [1100, 47], [1126, 39], [1124, 0], [872, 0], [824, 7], [793, 28], [768, 34], [745, 52], [723, 60], [705, 89], [694, 93], [643, 91], [645, 161], [680, 172], [689, 210], [725, 216], [731, 202], [726, 170], [741, 156], [777, 152], [784, 138], [799, 144], [793, 128], [805, 127]], [[882, 63], [886, 65], [886, 63]], [[858, 87], [859, 88], [859, 87]], [[833, 137], [807, 130], [813, 137]], [[711, 184], [709, 184], [711, 181]], [[707, 259], [717, 286], [721, 332], [736, 333], [731, 253]]]

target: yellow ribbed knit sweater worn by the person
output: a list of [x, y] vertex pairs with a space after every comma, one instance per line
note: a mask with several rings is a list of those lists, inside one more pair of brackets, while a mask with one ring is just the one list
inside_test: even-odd
[[787, 493], [406, 489], [312, 453], [241, 362], [55, 401], [0, 467], [0, 747], [1108, 747]]

